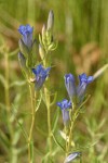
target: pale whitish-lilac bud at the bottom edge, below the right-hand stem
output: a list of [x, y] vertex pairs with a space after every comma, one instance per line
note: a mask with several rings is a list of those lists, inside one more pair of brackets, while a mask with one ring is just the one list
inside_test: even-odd
[[80, 155], [81, 155], [81, 152], [73, 152], [66, 158], [64, 163], [70, 163], [72, 160], [79, 158]]

